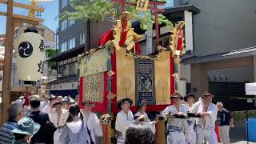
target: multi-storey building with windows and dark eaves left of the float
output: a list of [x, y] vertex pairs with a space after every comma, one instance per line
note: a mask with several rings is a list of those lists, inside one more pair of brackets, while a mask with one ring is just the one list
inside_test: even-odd
[[[72, 11], [71, 0], [59, 0], [59, 14]], [[59, 19], [58, 54], [47, 59], [57, 65], [57, 78], [50, 81], [51, 94], [78, 95], [78, 54], [98, 46], [102, 34], [113, 22], [85, 22], [83, 20]]]

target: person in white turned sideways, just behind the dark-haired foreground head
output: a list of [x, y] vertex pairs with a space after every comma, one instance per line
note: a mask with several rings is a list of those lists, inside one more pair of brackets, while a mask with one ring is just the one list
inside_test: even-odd
[[138, 118], [139, 116], [144, 114], [145, 118], [143, 118], [144, 120], [142, 121], [142, 123], [146, 124], [146, 126], [148, 126], [150, 128], [150, 130], [153, 132], [153, 134], [155, 134], [155, 124], [158, 122], [159, 117], [157, 116], [155, 121], [150, 122], [150, 119], [149, 119], [148, 115], [146, 114], [146, 100], [145, 99], [138, 101], [137, 106], [138, 106], [138, 112], [136, 114], [134, 114], [134, 118]]

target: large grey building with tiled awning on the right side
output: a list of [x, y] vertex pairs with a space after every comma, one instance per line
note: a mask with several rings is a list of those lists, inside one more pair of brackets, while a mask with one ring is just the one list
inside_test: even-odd
[[[185, 1], [183, 1], [185, 2]], [[244, 84], [254, 82], [256, 22], [254, 1], [186, 0], [201, 12], [193, 17], [194, 48], [182, 63], [190, 67], [191, 89], [200, 96], [210, 90], [214, 101], [242, 110]], [[254, 107], [253, 102], [248, 106]], [[242, 105], [244, 106], [244, 105]], [[244, 109], [244, 108], [243, 108]]]

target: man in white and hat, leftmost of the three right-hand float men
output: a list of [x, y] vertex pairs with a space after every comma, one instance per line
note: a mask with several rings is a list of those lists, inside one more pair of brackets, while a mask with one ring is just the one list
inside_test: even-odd
[[162, 111], [162, 115], [168, 118], [167, 123], [167, 144], [186, 144], [184, 131], [187, 127], [186, 119], [174, 118], [174, 114], [186, 117], [186, 106], [182, 105], [182, 95], [178, 93], [172, 94], [170, 99], [174, 100], [174, 104], [167, 106]]

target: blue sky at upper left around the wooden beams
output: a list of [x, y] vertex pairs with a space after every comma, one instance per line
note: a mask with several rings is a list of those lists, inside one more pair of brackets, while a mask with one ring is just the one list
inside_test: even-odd
[[[30, 4], [30, 0], [14, 0], [14, 2]], [[38, 5], [45, 8], [45, 11], [41, 14], [41, 18], [45, 20], [42, 24], [56, 32], [58, 28], [58, 18], [56, 18], [58, 16], [58, 0], [53, 0], [52, 2], [40, 2]], [[6, 6], [0, 4], [0, 11], [6, 12]], [[14, 7], [14, 14], [27, 15], [28, 10]], [[0, 16], [0, 34], [5, 33], [6, 17]]]

